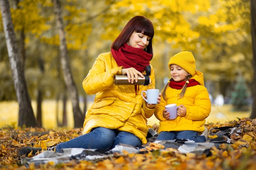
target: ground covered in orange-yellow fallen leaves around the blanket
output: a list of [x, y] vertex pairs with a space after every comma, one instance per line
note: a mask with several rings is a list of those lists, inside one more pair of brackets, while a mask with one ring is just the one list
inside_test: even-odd
[[[180, 153], [174, 148], [156, 148], [149, 145], [148, 152], [143, 154], [114, 154], [106, 159], [94, 161], [75, 161], [54, 165], [47, 163], [40, 166], [20, 164], [18, 155], [25, 146], [42, 147], [68, 141], [81, 135], [82, 128], [72, 130], [49, 130], [45, 128], [12, 128], [0, 129], [0, 169], [3, 170], [256, 170], [256, 119], [243, 118], [225, 124], [206, 124], [208, 129], [223, 126], [242, 125], [238, 135], [231, 136], [231, 143], [223, 143], [220, 148], [211, 148], [210, 155]], [[156, 126], [150, 127], [157, 129]], [[211, 138], [214, 138], [211, 136]], [[155, 149], [150, 148], [153, 146]], [[29, 157], [32, 157], [29, 155]]]

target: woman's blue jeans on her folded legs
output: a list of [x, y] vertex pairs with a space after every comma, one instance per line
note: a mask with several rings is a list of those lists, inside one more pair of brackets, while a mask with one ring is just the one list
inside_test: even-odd
[[140, 146], [141, 140], [130, 132], [97, 127], [85, 135], [58, 144], [56, 152], [63, 148], [112, 149], [118, 144]]

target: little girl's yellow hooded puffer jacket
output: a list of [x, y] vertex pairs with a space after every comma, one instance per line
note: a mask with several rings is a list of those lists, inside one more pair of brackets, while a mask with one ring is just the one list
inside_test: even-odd
[[[155, 117], [160, 120], [158, 133], [181, 130], [204, 131], [205, 119], [211, 111], [211, 101], [207, 88], [204, 87], [203, 73], [195, 71], [195, 75], [191, 79], [195, 79], [200, 85], [187, 87], [185, 95], [181, 99], [179, 99], [179, 94], [182, 89], [177, 90], [169, 86], [166, 88], [166, 101], [162, 98], [161, 103], [155, 107]], [[164, 106], [173, 103], [177, 106], [183, 104], [186, 107], [186, 116], [178, 116], [173, 120], [164, 118]]]

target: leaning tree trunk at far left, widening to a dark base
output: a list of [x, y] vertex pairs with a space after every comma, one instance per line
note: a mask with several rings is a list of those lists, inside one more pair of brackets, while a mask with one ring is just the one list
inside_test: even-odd
[[34, 116], [31, 106], [31, 100], [27, 91], [27, 84], [24, 75], [24, 68], [18, 53], [18, 45], [12, 24], [9, 1], [0, 0], [0, 6], [14, 88], [19, 104], [18, 126], [25, 125], [27, 127], [35, 127], [36, 117]]

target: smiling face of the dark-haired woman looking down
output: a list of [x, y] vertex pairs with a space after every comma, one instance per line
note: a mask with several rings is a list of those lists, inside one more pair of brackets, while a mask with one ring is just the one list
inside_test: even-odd
[[147, 35], [134, 31], [130, 36], [129, 40], [127, 41], [127, 44], [134, 48], [145, 49], [146, 46], [148, 46], [149, 40], [150, 37], [148, 37]]

